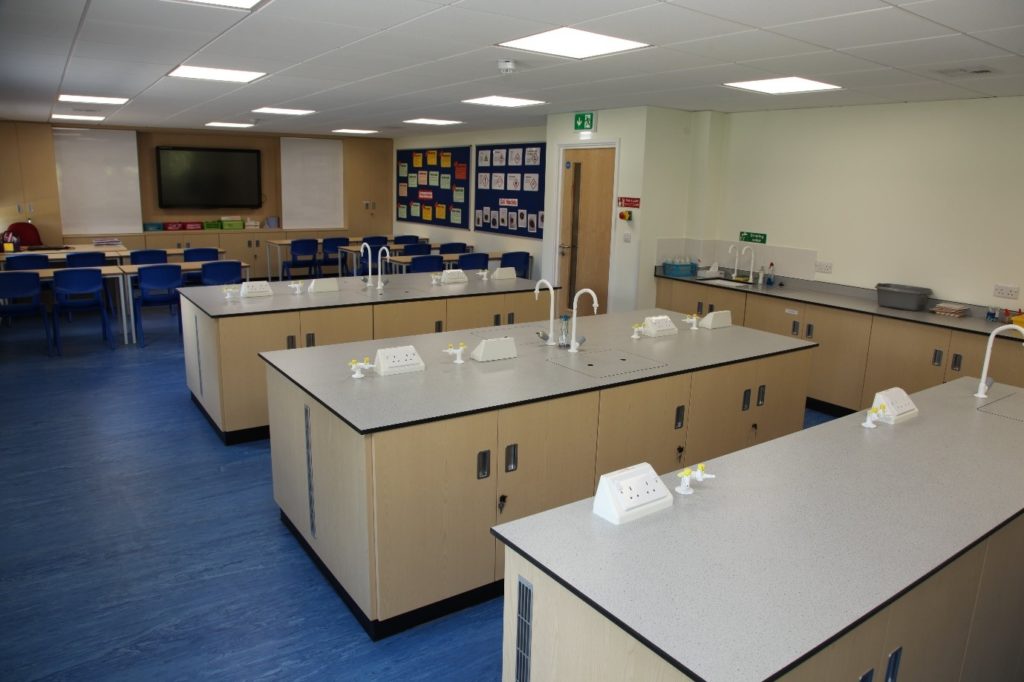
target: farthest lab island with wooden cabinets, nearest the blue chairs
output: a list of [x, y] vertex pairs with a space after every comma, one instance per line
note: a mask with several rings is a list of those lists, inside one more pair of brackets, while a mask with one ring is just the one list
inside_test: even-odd
[[297, 293], [287, 282], [270, 283], [273, 295], [261, 298], [226, 299], [221, 287], [180, 290], [188, 389], [225, 443], [266, 437], [260, 351], [548, 317], [547, 293], [535, 300], [531, 280], [432, 285], [428, 273], [390, 274], [378, 291], [376, 278], [372, 287], [331, 279], [339, 291], [310, 294], [308, 281], [291, 283]]

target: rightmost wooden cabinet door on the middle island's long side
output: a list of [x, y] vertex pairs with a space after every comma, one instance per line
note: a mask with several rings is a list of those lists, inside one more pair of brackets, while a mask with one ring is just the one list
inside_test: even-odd
[[755, 360], [752, 412], [757, 442], [796, 433], [804, 427], [811, 352], [798, 350]]

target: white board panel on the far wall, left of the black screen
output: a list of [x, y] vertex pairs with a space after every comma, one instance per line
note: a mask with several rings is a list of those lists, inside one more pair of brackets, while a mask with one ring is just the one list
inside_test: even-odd
[[134, 130], [54, 128], [65, 235], [141, 232]]

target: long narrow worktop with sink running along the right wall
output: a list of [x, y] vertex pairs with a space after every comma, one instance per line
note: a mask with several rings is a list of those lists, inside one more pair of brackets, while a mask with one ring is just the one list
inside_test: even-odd
[[806, 280], [795, 280], [792, 278], [781, 278], [781, 281], [784, 283], [781, 287], [723, 286], [716, 284], [716, 280], [714, 279], [671, 278], [662, 272], [660, 266], [654, 268], [654, 276], [675, 280], [676, 282], [689, 282], [708, 287], [731, 289], [744, 294], [769, 296], [771, 298], [781, 298], [802, 303], [814, 303], [830, 308], [842, 308], [854, 312], [865, 312], [883, 317], [905, 319], [922, 325], [933, 325], [935, 327], [945, 327], [947, 329], [975, 332], [978, 334], [990, 334], [993, 329], [999, 326], [999, 323], [985, 322], [983, 316], [946, 317], [927, 310], [899, 310], [897, 308], [882, 307], [878, 304], [873, 289], [859, 289], [857, 287], [846, 287], [827, 283], [807, 282]]

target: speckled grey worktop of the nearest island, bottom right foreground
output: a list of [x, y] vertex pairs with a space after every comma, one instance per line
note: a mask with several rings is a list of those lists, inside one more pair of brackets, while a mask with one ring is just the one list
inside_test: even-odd
[[585, 500], [494, 532], [689, 674], [763, 680], [1024, 510], [1024, 390], [976, 388], [922, 391], [897, 426], [857, 413], [716, 459], [715, 480], [633, 523]]

